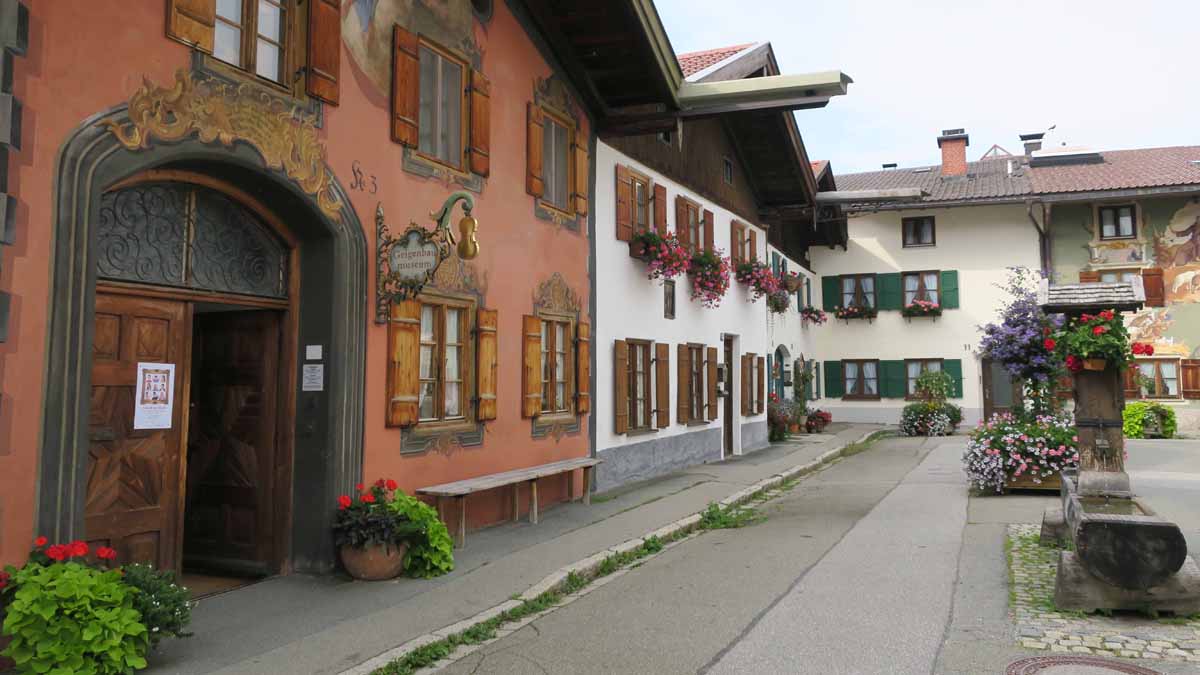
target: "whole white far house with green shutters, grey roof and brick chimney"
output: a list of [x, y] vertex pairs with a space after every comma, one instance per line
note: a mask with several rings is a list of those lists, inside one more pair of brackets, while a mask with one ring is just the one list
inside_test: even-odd
[[[899, 423], [916, 376], [926, 369], [954, 378], [964, 424], [1010, 405], [1007, 375], [977, 356], [979, 327], [1007, 299], [998, 285], [1008, 268], [1039, 269], [1042, 237], [1024, 203], [1027, 167], [1012, 156], [968, 163], [967, 142], [962, 130], [950, 130], [938, 138], [941, 166], [836, 179], [840, 191], [919, 187], [923, 197], [854, 205], [847, 250], [810, 251], [820, 303], [830, 313], [814, 331], [822, 362], [816, 405], [834, 420]], [[937, 304], [941, 315], [904, 316], [914, 300]], [[834, 316], [850, 305], [877, 315]]]

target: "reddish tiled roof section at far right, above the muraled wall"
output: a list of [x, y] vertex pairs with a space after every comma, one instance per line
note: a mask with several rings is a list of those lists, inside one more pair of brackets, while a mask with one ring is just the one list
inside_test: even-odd
[[1100, 153], [1103, 162], [1032, 167], [1039, 193], [1200, 184], [1200, 145]]

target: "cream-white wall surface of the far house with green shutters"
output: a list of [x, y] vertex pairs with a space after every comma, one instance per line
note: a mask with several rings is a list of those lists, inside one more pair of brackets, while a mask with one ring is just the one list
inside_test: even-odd
[[[905, 249], [901, 240], [902, 217], [934, 216], [936, 245]], [[846, 251], [812, 247], [809, 251], [818, 279], [814, 305], [822, 306], [820, 277], [841, 274], [895, 273], [922, 270], [958, 270], [959, 307], [944, 310], [932, 318], [905, 319], [899, 311], [880, 311], [874, 322], [834, 318], [812, 329], [815, 351], [822, 362], [821, 393], [826, 393], [827, 360], [908, 358], [961, 359], [962, 399], [954, 402], [964, 408], [964, 424], [974, 424], [983, 414], [983, 384], [979, 359], [978, 327], [995, 319], [1007, 299], [997, 285], [1007, 277], [1009, 267], [1039, 269], [1038, 235], [1024, 205], [958, 207], [877, 211], [850, 217], [850, 243]], [[896, 424], [904, 399], [878, 401], [822, 398], [821, 408], [833, 413], [835, 422], [874, 422]]]

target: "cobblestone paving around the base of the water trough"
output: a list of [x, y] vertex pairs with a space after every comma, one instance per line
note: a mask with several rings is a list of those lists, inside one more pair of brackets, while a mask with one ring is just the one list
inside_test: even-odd
[[1031, 650], [1200, 664], [1200, 616], [1154, 620], [1057, 611], [1058, 550], [1038, 543], [1040, 526], [1008, 526], [1009, 614], [1016, 640]]

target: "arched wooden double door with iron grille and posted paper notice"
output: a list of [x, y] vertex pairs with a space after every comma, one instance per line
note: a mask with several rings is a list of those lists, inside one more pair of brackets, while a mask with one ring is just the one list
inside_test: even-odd
[[[166, 569], [186, 557], [276, 572], [290, 503], [280, 430], [294, 245], [248, 196], [160, 178], [102, 197], [86, 537]], [[156, 420], [145, 392], [170, 370], [169, 413]]]

